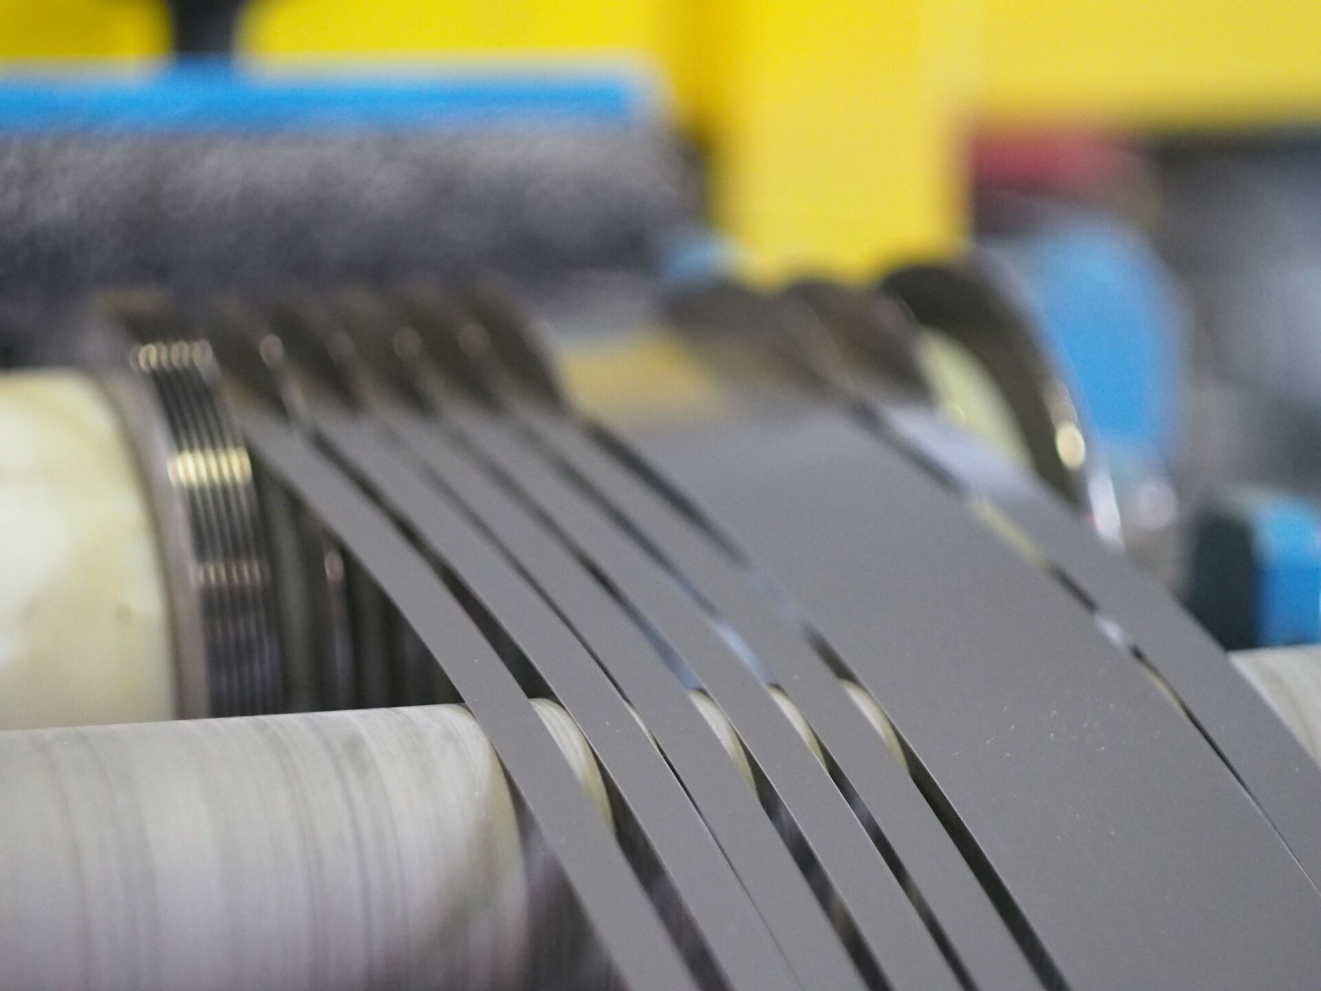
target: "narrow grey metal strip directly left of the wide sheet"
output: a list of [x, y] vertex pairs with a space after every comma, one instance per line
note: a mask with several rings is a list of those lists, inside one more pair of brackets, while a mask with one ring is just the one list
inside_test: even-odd
[[625, 515], [745, 640], [806, 716], [911, 877], [972, 984], [1036, 983], [1026, 959], [939, 819], [835, 673], [688, 519], [572, 424], [539, 411], [524, 423]]

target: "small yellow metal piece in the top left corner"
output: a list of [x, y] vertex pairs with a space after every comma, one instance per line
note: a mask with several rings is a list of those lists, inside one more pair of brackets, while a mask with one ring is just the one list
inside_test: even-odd
[[168, 48], [165, 8], [152, 0], [0, 0], [0, 61], [155, 58]]

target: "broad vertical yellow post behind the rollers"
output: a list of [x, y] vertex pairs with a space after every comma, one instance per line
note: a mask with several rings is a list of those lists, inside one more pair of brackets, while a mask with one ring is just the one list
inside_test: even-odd
[[963, 0], [721, 0], [700, 122], [745, 275], [845, 276], [963, 233]]

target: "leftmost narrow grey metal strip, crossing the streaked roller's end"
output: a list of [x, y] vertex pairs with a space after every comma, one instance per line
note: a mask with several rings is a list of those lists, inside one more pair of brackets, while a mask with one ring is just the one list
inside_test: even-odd
[[550, 731], [436, 572], [371, 499], [287, 424], [255, 407], [235, 412], [267, 469], [338, 535], [454, 683], [540, 826], [621, 979], [638, 990], [696, 991]]

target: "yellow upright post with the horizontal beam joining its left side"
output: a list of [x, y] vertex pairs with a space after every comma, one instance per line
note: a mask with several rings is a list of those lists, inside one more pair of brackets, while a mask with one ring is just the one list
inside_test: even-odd
[[642, 54], [709, 152], [745, 275], [864, 275], [954, 247], [970, 0], [258, 0], [252, 53]]

